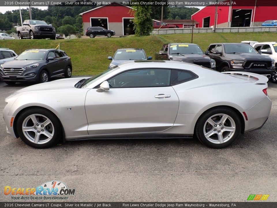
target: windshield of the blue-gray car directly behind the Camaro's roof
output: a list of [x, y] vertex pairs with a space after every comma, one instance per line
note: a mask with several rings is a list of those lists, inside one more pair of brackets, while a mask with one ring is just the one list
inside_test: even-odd
[[115, 60], [146, 60], [146, 55], [142, 50], [118, 50], [113, 57]]

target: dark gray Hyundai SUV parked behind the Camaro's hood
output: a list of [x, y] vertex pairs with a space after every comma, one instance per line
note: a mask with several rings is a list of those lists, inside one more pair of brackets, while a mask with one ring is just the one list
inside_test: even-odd
[[70, 57], [57, 49], [29, 49], [15, 60], [0, 65], [0, 79], [7, 84], [16, 82], [48, 82], [51, 77], [71, 77]]

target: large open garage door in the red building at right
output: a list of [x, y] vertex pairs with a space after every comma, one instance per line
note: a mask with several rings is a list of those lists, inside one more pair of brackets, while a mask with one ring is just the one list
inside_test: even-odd
[[252, 10], [233, 9], [231, 27], [250, 27]]

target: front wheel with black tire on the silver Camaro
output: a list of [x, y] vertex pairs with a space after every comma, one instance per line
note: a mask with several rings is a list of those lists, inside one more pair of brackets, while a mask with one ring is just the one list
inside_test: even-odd
[[[35, 118], [37, 122], [33, 122], [33, 119], [30, 116]], [[44, 121], [46, 121], [46, 119], [50, 120], [51, 123], [43, 126], [42, 124]], [[33, 128], [32, 130], [24, 131], [25, 133], [23, 133], [23, 125], [25, 127]], [[57, 116], [49, 110], [39, 107], [27, 109], [21, 113], [16, 122], [16, 128], [21, 140], [34, 148], [51, 147], [57, 144], [57, 142], [59, 142], [62, 137], [61, 123], [59, 122]], [[38, 142], [36, 143], [35, 136], [38, 136]]]

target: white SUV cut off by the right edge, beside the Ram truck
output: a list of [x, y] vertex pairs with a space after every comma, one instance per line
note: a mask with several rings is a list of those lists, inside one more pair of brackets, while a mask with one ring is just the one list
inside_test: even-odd
[[[275, 60], [275, 68], [277, 69], [277, 42], [258, 42], [254, 43], [253, 48], [256, 51], [261, 51], [262, 55], [269, 56]], [[272, 75], [272, 82], [277, 83], [277, 72]]]

